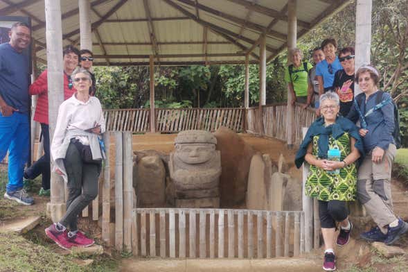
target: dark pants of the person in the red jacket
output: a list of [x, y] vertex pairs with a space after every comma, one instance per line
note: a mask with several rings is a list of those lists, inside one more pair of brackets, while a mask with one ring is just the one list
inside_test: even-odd
[[50, 189], [50, 133], [47, 124], [41, 123], [42, 142], [44, 146], [44, 155], [37, 160], [31, 167], [26, 169], [25, 178], [33, 180], [37, 176], [42, 175], [42, 187], [46, 190]]

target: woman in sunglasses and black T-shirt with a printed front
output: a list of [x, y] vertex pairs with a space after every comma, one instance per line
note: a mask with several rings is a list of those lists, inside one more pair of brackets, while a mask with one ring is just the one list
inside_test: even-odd
[[340, 50], [339, 61], [343, 69], [336, 72], [333, 88], [340, 98], [340, 114], [346, 117], [354, 99], [354, 48]]

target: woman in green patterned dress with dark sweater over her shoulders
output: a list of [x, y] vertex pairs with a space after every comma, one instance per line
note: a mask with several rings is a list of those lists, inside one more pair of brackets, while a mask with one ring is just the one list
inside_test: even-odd
[[295, 163], [298, 168], [303, 161], [310, 164], [305, 194], [317, 198], [319, 202], [325, 245], [323, 269], [333, 271], [336, 269], [333, 249], [336, 222], [340, 226], [336, 244], [344, 246], [353, 228], [348, 220], [346, 202], [356, 199], [355, 161], [364, 151], [357, 126], [338, 115], [339, 96], [334, 92], [326, 92], [320, 97], [320, 105], [322, 117], [310, 126], [296, 154]]

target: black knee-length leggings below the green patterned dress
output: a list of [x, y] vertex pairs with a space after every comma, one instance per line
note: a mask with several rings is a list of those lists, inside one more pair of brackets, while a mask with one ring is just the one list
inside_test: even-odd
[[336, 221], [341, 222], [348, 216], [346, 201], [319, 201], [321, 228], [336, 228]]

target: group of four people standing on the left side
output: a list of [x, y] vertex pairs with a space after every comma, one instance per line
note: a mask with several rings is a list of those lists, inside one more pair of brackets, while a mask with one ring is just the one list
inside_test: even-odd
[[[0, 161], [8, 152], [8, 184], [5, 198], [24, 205], [34, 199], [24, 189], [24, 178], [42, 175], [40, 195], [50, 194], [51, 162], [69, 189], [66, 213], [46, 228], [46, 235], [62, 248], [94, 244], [78, 230], [78, 215], [98, 194], [98, 176], [105, 158], [99, 135], [105, 132], [102, 106], [95, 97], [93, 55], [74, 46], [63, 49], [64, 102], [60, 105], [50, 146], [48, 128], [47, 70], [30, 85], [28, 58], [30, 28], [17, 22], [9, 33], [10, 42], [0, 45]], [[30, 95], [38, 95], [34, 120], [41, 124], [44, 155], [31, 167], [28, 161]]]

